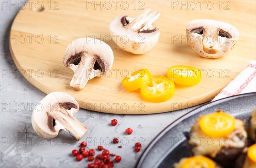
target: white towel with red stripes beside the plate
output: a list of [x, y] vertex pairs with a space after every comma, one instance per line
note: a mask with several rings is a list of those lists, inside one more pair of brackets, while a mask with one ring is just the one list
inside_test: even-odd
[[212, 101], [250, 92], [256, 92], [256, 61], [250, 61], [249, 65]]

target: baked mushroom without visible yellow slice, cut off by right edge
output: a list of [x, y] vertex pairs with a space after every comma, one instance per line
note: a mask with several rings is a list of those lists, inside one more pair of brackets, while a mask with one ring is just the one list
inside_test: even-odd
[[247, 132], [253, 143], [256, 143], [256, 109], [250, 114]]

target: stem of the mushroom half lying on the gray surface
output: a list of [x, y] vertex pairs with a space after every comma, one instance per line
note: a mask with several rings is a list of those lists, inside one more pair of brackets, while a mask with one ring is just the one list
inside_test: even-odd
[[63, 107], [60, 107], [58, 112], [50, 112], [50, 115], [53, 119], [61, 123], [66, 130], [70, 131], [70, 133], [75, 136], [77, 140], [80, 140], [88, 130], [86, 126], [70, 115], [70, 113], [68, 113]]

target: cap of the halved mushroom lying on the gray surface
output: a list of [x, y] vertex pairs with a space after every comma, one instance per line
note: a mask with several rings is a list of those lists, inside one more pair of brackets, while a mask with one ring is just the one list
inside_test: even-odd
[[[63, 92], [52, 92], [45, 96], [36, 106], [32, 113], [32, 127], [35, 132], [44, 138], [54, 138], [59, 130], [65, 129], [49, 113], [60, 113], [60, 108], [67, 109], [67, 112], [73, 116], [78, 112], [79, 104], [73, 96]], [[53, 127], [52, 127], [53, 126]]]

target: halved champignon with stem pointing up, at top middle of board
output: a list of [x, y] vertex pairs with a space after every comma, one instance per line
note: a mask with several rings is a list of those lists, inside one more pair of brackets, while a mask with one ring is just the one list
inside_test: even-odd
[[121, 49], [132, 54], [143, 54], [152, 49], [159, 39], [159, 29], [152, 23], [160, 16], [159, 12], [146, 9], [138, 17], [122, 15], [109, 24], [113, 41]]

